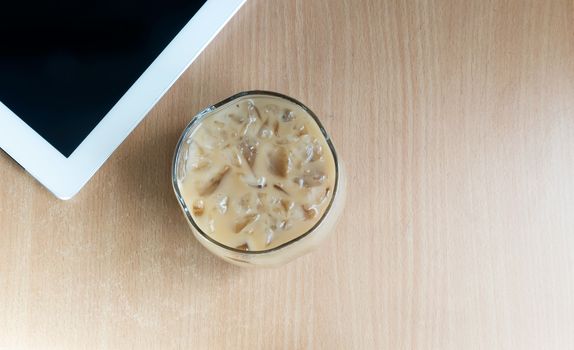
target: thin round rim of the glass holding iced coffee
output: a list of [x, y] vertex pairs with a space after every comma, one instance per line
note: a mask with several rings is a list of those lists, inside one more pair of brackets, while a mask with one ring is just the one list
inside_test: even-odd
[[[321, 130], [321, 134], [325, 138], [325, 141], [327, 142], [327, 145], [329, 146], [329, 149], [331, 150], [331, 154], [333, 155], [333, 160], [335, 162], [335, 186], [333, 189], [333, 195], [331, 196], [331, 200], [329, 202], [329, 205], [325, 209], [325, 212], [323, 213], [323, 215], [305, 233], [303, 233], [303, 234], [301, 234], [301, 235], [299, 235], [299, 236], [297, 236], [297, 237], [295, 237], [295, 238], [293, 238], [293, 239], [291, 239], [291, 240], [289, 240], [289, 241], [287, 241], [281, 245], [278, 245], [277, 247], [273, 247], [273, 248], [265, 249], [265, 250], [241, 250], [241, 249], [237, 249], [237, 248], [225, 245], [225, 244], [213, 239], [210, 235], [205, 233], [199, 227], [199, 225], [195, 222], [195, 220], [193, 219], [193, 216], [191, 215], [189, 207], [187, 206], [185, 200], [183, 199], [183, 196], [181, 195], [181, 192], [179, 189], [179, 183], [178, 183], [178, 179], [177, 179], [178, 159], [180, 156], [180, 152], [182, 150], [182, 145], [185, 143], [186, 136], [188, 134], [190, 134], [190, 131], [192, 131], [195, 127], [197, 127], [201, 123], [203, 118], [205, 118], [209, 113], [215, 111], [216, 109], [218, 109], [220, 107], [223, 107], [223, 106], [231, 103], [232, 101], [235, 101], [235, 100], [240, 99], [240, 98], [248, 97], [248, 96], [254, 96], [254, 97], [255, 96], [271, 96], [271, 97], [276, 97], [276, 98], [282, 98], [282, 99], [285, 99], [289, 102], [292, 102], [292, 103], [296, 104], [297, 106], [299, 106], [300, 108], [302, 108], [305, 112], [307, 112], [313, 118], [315, 123], [317, 123], [319, 130]], [[179, 205], [180, 205], [181, 209], [183, 210], [188, 223], [190, 223], [193, 226], [193, 228], [195, 230], [197, 230], [197, 232], [203, 238], [207, 239], [209, 242], [215, 244], [216, 246], [218, 246], [220, 248], [223, 248], [225, 250], [229, 250], [229, 251], [232, 251], [235, 253], [247, 254], [247, 255], [260, 255], [260, 254], [272, 253], [272, 252], [287, 248], [288, 246], [291, 246], [292, 244], [294, 244], [294, 243], [302, 240], [303, 238], [309, 236], [312, 232], [314, 232], [321, 225], [321, 223], [324, 221], [325, 217], [327, 217], [327, 215], [331, 211], [331, 208], [333, 207], [333, 202], [335, 201], [335, 197], [336, 197], [338, 189], [339, 189], [339, 159], [337, 156], [337, 152], [335, 151], [335, 147], [333, 146], [333, 143], [331, 141], [331, 137], [325, 131], [323, 124], [321, 124], [321, 121], [319, 120], [317, 115], [311, 109], [309, 109], [307, 106], [305, 106], [303, 103], [299, 102], [298, 100], [296, 100], [292, 97], [280, 94], [278, 92], [265, 91], [265, 90], [249, 90], [249, 91], [239, 92], [239, 93], [237, 93], [233, 96], [230, 96], [230, 97], [228, 97], [228, 98], [226, 98], [226, 99], [224, 99], [224, 100], [222, 100], [222, 101], [220, 101], [214, 105], [211, 105], [211, 106], [205, 108], [204, 110], [202, 110], [201, 112], [197, 113], [193, 118], [191, 118], [191, 121], [183, 129], [181, 136], [179, 137], [179, 140], [175, 146], [175, 152], [174, 152], [174, 156], [173, 156], [173, 160], [172, 160], [172, 168], [171, 168], [171, 181], [172, 181], [172, 187], [173, 187], [173, 190], [175, 192], [175, 196], [177, 198], [177, 201], [179, 202]]]

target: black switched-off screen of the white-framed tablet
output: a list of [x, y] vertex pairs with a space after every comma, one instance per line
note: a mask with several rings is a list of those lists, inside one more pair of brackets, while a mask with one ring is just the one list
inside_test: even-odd
[[0, 101], [68, 157], [205, 3], [0, 4]]

